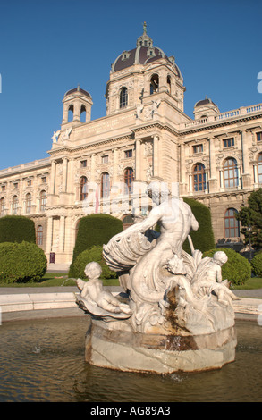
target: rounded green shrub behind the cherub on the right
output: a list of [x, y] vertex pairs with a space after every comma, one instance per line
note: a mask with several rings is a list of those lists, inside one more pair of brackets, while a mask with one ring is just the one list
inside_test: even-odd
[[216, 251], [224, 251], [228, 257], [227, 263], [222, 265], [223, 280], [232, 281], [232, 284], [244, 284], [251, 277], [251, 265], [249, 261], [230, 248], [216, 248], [204, 252], [203, 257], [213, 256]]

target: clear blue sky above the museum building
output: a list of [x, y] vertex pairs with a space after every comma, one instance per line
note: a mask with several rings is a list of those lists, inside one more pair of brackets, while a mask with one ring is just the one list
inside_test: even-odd
[[8, 0], [0, 9], [0, 169], [47, 157], [64, 93], [106, 114], [111, 63], [147, 21], [154, 45], [182, 71], [185, 113], [210, 97], [221, 112], [262, 103], [261, 0]]

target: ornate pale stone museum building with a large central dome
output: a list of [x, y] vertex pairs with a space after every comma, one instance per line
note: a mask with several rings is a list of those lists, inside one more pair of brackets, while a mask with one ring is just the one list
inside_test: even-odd
[[262, 104], [220, 113], [204, 98], [191, 119], [184, 92], [144, 25], [111, 66], [106, 116], [92, 121], [89, 91], [68, 90], [50, 156], [0, 171], [1, 217], [30, 217], [48, 261], [69, 264], [81, 217], [110, 213], [125, 227], [148, 213], [147, 182], [159, 180], [210, 208], [216, 242], [238, 243], [234, 214], [262, 185]]

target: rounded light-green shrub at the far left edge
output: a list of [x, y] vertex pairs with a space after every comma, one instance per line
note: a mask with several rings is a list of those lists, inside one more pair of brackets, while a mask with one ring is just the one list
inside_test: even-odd
[[46, 273], [46, 255], [30, 242], [0, 243], [0, 281], [38, 281]]

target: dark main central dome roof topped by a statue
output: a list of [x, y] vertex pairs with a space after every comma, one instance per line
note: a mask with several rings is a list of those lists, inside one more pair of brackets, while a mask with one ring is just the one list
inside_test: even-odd
[[133, 64], [148, 64], [153, 63], [159, 58], [165, 58], [175, 68], [176, 75], [182, 79], [181, 71], [178, 66], [174, 63], [174, 57], [167, 57], [161, 48], [153, 46], [152, 38], [148, 37], [147, 25], [144, 23], [144, 32], [137, 40], [136, 48], [129, 51], [123, 51], [121, 55], [118, 55], [114, 63], [112, 64], [111, 71], [121, 71], [130, 67]]

